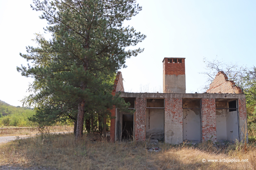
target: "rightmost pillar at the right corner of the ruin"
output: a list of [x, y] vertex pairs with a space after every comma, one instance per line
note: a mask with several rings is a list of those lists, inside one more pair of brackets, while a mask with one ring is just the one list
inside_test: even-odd
[[[238, 114], [239, 114], [239, 137], [240, 141], [248, 142], [246, 103], [244, 99], [238, 99]], [[245, 137], [245, 138], [244, 138]]]

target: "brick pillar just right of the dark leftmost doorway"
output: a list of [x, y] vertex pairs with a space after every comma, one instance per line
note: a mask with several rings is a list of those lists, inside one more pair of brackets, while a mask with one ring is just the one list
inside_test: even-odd
[[135, 140], [146, 139], [146, 98], [136, 98], [135, 101]]

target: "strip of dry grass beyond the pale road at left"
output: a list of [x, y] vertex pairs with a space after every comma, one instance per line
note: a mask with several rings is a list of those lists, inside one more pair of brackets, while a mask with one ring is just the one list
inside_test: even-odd
[[[73, 126], [51, 126], [50, 132], [66, 132], [73, 131]], [[36, 128], [24, 128], [24, 129], [0, 129], [0, 137], [3, 136], [23, 136], [37, 134]]]

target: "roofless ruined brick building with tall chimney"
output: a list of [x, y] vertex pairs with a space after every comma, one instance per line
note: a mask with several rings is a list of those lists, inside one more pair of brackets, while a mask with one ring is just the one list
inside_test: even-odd
[[110, 140], [148, 138], [170, 144], [183, 141], [248, 140], [245, 94], [224, 72], [219, 72], [205, 93], [185, 93], [185, 58], [164, 58], [163, 92], [124, 92], [118, 72], [113, 95], [130, 102], [134, 115], [111, 110]]

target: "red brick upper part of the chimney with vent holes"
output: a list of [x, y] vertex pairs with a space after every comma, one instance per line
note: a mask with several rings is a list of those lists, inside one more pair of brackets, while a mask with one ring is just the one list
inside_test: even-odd
[[[180, 61], [180, 63], [177, 62]], [[164, 75], [184, 75], [185, 58], [164, 58], [163, 60]]]

